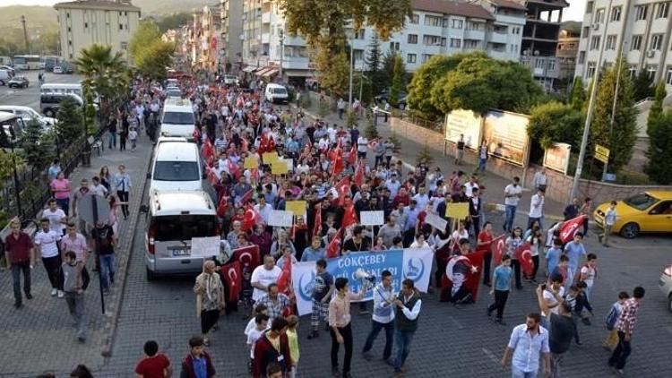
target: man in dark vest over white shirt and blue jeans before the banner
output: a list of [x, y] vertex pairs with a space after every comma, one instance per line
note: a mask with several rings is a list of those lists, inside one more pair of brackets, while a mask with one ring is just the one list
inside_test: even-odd
[[420, 293], [416, 290], [412, 279], [404, 279], [401, 282], [401, 292], [398, 299], [394, 300], [397, 306], [394, 341], [397, 344], [397, 359], [394, 361], [394, 376], [401, 377], [406, 373], [404, 363], [409, 357], [410, 343], [413, 341], [413, 335], [418, 330], [418, 316], [422, 299]]

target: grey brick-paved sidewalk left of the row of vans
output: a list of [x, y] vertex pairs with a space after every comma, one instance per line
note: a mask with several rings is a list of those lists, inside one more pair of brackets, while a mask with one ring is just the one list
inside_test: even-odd
[[[106, 135], [107, 136], [107, 135]], [[107, 142], [107, 141], [106, 141]], [[130, 143], [128, 143], [130, 145]], [[107, 147], [107, 143], [106, 143]], [[90, 287], [86, 290], [85, 314], [87, 316], [87, 337], [85, 343], [75, 339], [73, 320], [68, 313], [65, 300], [50, 296], [47, 274], [40, 263], [31, 272], [33, 299], [24, 300], [24, 307], [13, 307], [13, 281], [9, 271], [0, 272], [0, 376], [34, 377], [44, 372], [64, 376], [77, 364], [85, 364], [93, 369], [101, 367], [105, 358], [102, 353], [109, 348], [115, 324], [118, 301], [125, 279], [125, 266], [134, 235], [138, 203], [141, 201], [148, 161], [152, 146], [142, 135], [138, 149], [106, 150], [99, 157], [93, 154], [90, 167], [78, 167], [68, 177], [73, 189], [79, 187], [82, 178], [99, 174], [99, 169], [107, 165], [110, 172], [116, 172], [119, 164], [126, 166], [131, 175], [130, 195], [131, 215], [125, 220], [119, 211], [119, 240], [116, 248], [116, 283], [105, 297], [106, 314], [101, 314], [98, 274], [91, 271], [93, 260], [89, 261], [91, 273]]]

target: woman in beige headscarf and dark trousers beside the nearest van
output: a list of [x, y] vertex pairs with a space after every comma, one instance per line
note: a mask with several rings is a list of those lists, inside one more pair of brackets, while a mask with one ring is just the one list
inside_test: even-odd
[[208, 345], [208, 332], [220, 319], [220, 310], [224, 308], [224, 287], [212, 260], [203, 263], [203, 271], [196, 277], [194, 293], [196, 316], [201, 318], [202, 337], [205, 345]]

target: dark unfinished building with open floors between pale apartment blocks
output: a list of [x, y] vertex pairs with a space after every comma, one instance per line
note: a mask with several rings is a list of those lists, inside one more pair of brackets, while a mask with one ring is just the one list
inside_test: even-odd
[[522, 30], [521, 63], [530, 65], [534, 78], [546, 90], [557, 90], [556, 80], [561, 76], [557, 64], [557, 40], [564, 0], [527, 0], [527, 20]]

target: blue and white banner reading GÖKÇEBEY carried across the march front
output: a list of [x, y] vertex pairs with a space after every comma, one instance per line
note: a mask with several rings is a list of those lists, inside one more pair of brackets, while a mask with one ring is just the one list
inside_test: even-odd
[[[361, 286], [361, 282], [355, 278], [355, 271], [359, 268], [375, 276], [376, 284], [380, 282], [383, 271], [390, 271], [395, 293], [401, 290], [401, 281], [404, 279], [413, 279], [415, 287], [419, 291], [426, 292], [433, 257], [434, 253], [429, 248], [350, 253], [327, 259], [327, 271], [332, 273], [334, 280], [339, 277], [347, 278], [350, 290], [353, 292], [358, 292]], [[312, 311], [311, 296], [315, 274], [314, 262], [298, 262], [292, 265], [292, 283], [297, 295], [299, 315], [310, 314]], [[364, 300], [371, 299], [373, 294], [368, 290]]]

